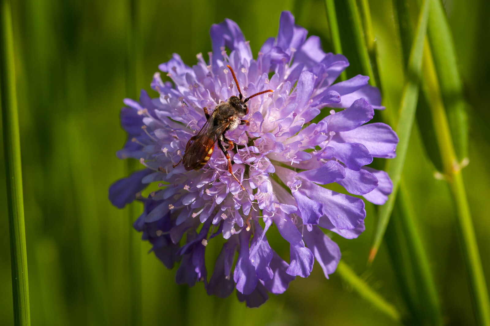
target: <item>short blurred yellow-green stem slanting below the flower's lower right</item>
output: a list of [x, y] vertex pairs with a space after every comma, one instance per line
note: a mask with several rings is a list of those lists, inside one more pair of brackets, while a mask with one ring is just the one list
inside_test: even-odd
[[341, 260], [337, 266], [337, 274], [355, 290], [361, 297], [370, 302], [374, 307], [376, 307], [380, 312], [389, 316], [395, 321], [400, 321], [401, 315], [398, 310], [390, 302], [386, 301], [377, 292], [371, 289], [368, 284], [357, 274], [352, 271], [352, 269], [343, 263]]

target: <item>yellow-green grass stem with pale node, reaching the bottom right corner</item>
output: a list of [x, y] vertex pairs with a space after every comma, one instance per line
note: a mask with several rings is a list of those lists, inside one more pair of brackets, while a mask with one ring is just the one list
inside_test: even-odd
[[490, 325], [490, 299], [487, 283], [466, 198], [463, 175], [458, 164], [448, 118], [444, 109], [435, 63], [432, 59], [431, 51], [427, 47], [424, 50], [423, 78], [424, 92], [430, 94], [432, 99], [430, 109], [434, 128], [437, 130], [437, 141], [441, 148], [444, 176], [449, 183], [456, 206], [456, 229], [468, 276], [475, 318], [478, 325], [487, 326]]

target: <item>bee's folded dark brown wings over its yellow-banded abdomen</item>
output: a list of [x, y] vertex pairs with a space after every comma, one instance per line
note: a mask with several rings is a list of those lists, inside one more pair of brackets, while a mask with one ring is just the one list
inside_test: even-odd
[[209, 159], [207, 156], [211, 156], [213, 153], [214, 144], [226, 128], [228, 128], [229, 122], [214, 126], [212, 123], [210, 124], [210, 120], [213, 119], [209, 118], [195, 138], [189, 139], [187, 143], [182, 163], [188, 171], [199, 169], [202, 167], [200, 166], [201, 163], [207, 162]]

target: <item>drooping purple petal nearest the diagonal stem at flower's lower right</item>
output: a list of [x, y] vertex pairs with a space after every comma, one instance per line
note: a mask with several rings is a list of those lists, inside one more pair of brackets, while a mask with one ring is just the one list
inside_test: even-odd
[[325, 277], [328, 278], [328, 274], [335, 272], [339, 264], [341, 257], [339, 246], [315, 225], [313, 230], [305, 232], [304, 239], [308, 248], [313, 251]]

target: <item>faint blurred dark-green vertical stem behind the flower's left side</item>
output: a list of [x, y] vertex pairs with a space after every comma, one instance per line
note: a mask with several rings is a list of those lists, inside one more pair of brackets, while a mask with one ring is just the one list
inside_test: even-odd
[[[137, 68], [136, 68], [136, 0], [127, 1], [126, 22], [126, 65], [125, 65], [125, 88], [126, 96], [136, 99]], [[134, 160], [126, 160], [126, 172], [130, 174], [136, 169]], [[137, 204], [128, 205], [127, 214], [129, 220], [128, 234], [128, 264], [129, 264], [129, 306], [130, 325], [138, 326], [143, 321], [142, 290], [141, 290], [141, 240], [139, 233], [135, 232], [132, 224], [137, 217]]]

